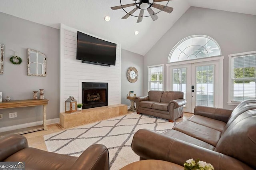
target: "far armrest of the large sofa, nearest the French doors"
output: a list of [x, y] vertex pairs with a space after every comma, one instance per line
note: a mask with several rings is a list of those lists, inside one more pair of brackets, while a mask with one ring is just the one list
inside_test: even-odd
[[227, 123], [233, 110], [221, 109], [207, 106], [196, 106], [194, 115], [200, 115]]

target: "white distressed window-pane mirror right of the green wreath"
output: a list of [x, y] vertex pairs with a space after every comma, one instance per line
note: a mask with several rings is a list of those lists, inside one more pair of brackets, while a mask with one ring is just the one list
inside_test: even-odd
[[46, 55], [35, 49], [28, 49], [28, 75], [46, 76]]

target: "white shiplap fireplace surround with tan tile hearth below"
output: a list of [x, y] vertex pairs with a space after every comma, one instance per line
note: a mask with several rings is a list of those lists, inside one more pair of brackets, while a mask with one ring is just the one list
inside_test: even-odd
[[[60, 125], [64, 128], [100, 121], [127, 113], [127, 105], [120, 104], [120, 44], [117, 43], [116, 65], [106, 67], [81, 63], [80, 60], [76, 60], [77, 31], [80, 30], [61, 24]], [[84, 33], [88, 34], [86, 32]], [[91, 34], [88, 35], [94, 36]], [[70, 95], [73, 95], [78, 103], [82, 103], [82, 82], [108, 83], [108, 106], [83, 109], [82, 111], [71, 114], [64, 113], [65, 100], [68, 99]]]

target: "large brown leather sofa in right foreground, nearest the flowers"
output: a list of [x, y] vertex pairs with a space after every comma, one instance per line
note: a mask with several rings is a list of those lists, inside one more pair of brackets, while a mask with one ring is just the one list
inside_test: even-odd
[[197, 106], [190, 119], [163, 134], [138, 130], [132, 150], [140, 160], [183, 165], [190, 158], [199, 158], [215, 170], [255, 170], [256, 100], [243, 101], [234, 111]]

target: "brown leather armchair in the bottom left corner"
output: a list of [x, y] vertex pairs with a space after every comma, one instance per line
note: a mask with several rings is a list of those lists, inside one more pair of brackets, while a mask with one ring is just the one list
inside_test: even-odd
[[102, 144], [88, 147], [79, 157], [28, 147], [27, 139], [18, 134], [0, 138], [0, 161], [25, 162], [35, 170], [109, 170], [108, 149]]

